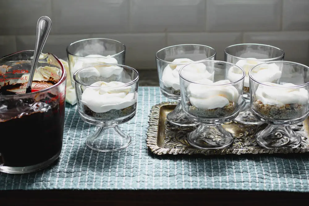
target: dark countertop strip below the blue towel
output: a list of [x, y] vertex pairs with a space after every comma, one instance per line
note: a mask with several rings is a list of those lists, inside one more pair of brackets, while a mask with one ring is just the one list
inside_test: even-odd
[[0, 191], [0, 205], [297, 205], [307, 193], [232, 190]]

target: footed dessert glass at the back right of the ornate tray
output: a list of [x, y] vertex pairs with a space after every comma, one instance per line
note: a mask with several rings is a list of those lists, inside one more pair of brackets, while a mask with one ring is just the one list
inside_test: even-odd
[[[249, 95], [249, 70], [258, 64], [267, 61], [281, 61], [284, 58], [284, 51], [280, 48], [265, 44], [235, 44], [224, 49], [224, 61], [233, 63], [245, 70], [246, 76], [243, 83], [244, 103], [239, 115], [235, 118], [235, 122], [241, 124], [262, 124], [257, 120], [251, 112], [250, 95]], [[269, 81], [276, 81], [278, 78], [278, 69], [276, 67], [267, 67], [264, 65], [260, 68], [260, 75], [267, 75]], [[231, 72], [231, 76], [234, 74]]]

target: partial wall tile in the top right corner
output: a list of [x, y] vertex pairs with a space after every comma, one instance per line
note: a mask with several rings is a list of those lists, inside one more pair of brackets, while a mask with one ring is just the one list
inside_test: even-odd
[[309, 0], [283, 0], [283, 30], [309, 30]]

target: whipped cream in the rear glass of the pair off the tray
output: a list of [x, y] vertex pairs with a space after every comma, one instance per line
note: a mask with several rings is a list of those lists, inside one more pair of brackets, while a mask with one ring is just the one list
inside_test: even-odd
[[[74, 64], [73, 69], [71, 70], [72, 74], [74, 74], [78, 69], [81, 69], [86, 66], [97, 65], [97, 64], [118, 64], [118, 61], [114, 57], [102, 56], [99, 54], [91, 54], [87, 55], [88, 59], [78, 59], [78, 61]], [[87, 70], [87, 71], [86, 71]], [[120, 75], [123, 68], [120, 66], [93, 66], [84, 70], [86, 76], [83, 77], [104, 77], [109, 78], [113, 74]]]

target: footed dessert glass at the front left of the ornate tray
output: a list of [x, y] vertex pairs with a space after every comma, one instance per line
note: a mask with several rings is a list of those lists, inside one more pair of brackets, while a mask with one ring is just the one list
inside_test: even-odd
[[[192, 78], [193, 64], [207, 69], [213, 74], [213, 80]], [[227, 76], [232, 66], [238, 74], [238, 79], [234, 81], [230, 81]], [[185, 65], [179, 74], [184, 115], [201, 123], [188, 134], [189, 144], [199, 149], [221, 149], [231, 145], [233, 135], [221, 123], [231, 121], [239, 114], [244, 70], [228, 62], [208, 60]]]

